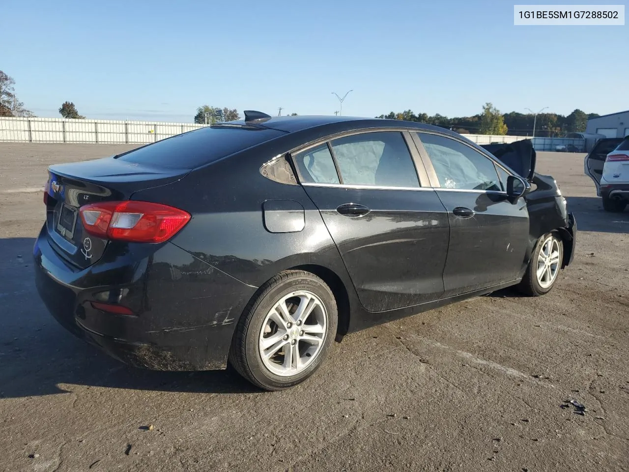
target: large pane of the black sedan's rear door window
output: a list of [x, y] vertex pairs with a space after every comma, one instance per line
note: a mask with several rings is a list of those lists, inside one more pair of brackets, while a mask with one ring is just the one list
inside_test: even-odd
[[360, 133], [330, 142], [343, 184], [420, 186], [415, 164], [399, 132]]

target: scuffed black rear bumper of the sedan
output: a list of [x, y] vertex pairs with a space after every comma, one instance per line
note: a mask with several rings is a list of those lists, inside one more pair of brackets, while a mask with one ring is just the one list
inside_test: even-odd
[[[140, 368], [169, 371], [222, 369], [248, 286], [165, 243], [131, 247], [87, 269], [67, 266], [42, 230], [33, 249], [35, 283], [52, 316], [77, 337]], [[94, 308], [102, 294], [134, 315]], [[101, 294], [101, 295], [98, 295]], [[112, 295], [113, 294], [113, 295]], [[100, 296], [101, 298], [97, 298]]]

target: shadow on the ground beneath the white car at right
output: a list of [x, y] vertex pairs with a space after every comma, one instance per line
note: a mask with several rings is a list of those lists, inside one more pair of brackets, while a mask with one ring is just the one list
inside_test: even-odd
[[579, 231], [629, 233], [629, 208], [622, 213], [610, 213], [603, 210], [599, 197], [569, 196], [565, 199], [568, 211], [576, 216]]

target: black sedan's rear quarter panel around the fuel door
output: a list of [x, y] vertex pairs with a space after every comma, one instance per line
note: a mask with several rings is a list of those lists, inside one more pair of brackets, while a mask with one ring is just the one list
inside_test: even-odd
[[[251, 162], [242, 162], [248, 159]], [[235, 164], [226, 159], [193, 171], [171, 184], [167, 193], [163, 188], [149, 189], [133, 198], [159, 199], [189, 211], [191, 221], [170, 240], [172, 244], [238, 281], [259, 287], [288, 268], [314, 264], [341, 279], [353, 310], [359, 302], [352, 282], [304, 189], [262, 176], [264, 161], [257, 155], [240, 160]]]

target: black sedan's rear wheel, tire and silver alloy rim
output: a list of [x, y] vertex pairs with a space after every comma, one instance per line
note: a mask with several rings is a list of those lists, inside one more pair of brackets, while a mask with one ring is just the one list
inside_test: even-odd
[[284, 390], [321, 366], [337, 325], [330, 287], [315, 274], [284, 271], [260, 287], [240, 318], [230, 364], [253, 385]]

